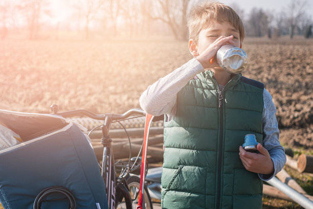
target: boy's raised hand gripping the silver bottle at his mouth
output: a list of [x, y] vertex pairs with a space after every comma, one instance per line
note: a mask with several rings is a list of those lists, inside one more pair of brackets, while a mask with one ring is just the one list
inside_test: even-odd
[[204, 69], [219, 67], [216, 60], [212, 64], [210, 63], [210, 60], [211, 58], [215, 57], [217, 51], [219, 50], [219, 48], [221, 48], [221, 46], [227, 44], [235, 45], [235, 42], [232, 40], [233, 38], [233, 35], [228, 37], [220, 36], [202, 54], [197, 56], [196, 59], [200, 62]]

